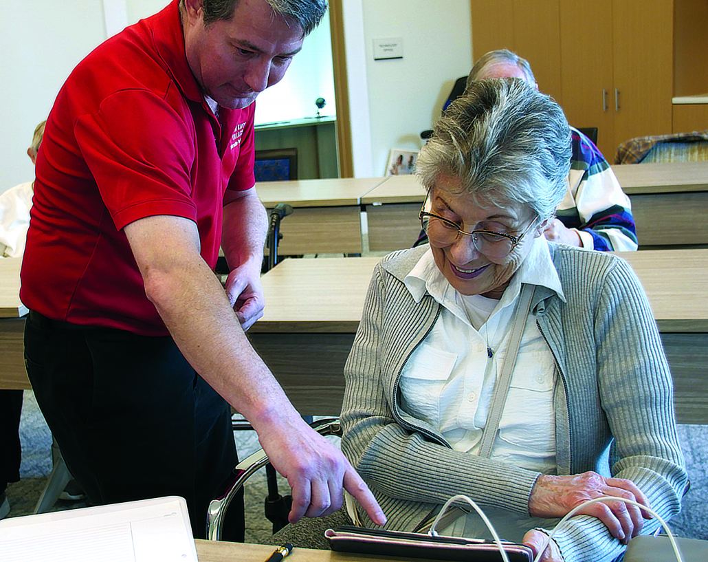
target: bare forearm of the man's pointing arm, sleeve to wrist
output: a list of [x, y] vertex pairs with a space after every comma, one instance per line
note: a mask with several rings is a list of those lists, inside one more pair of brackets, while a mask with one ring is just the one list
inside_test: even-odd
[[273, 411], [294, 412], [201, 258], [195, 223], [149, 217], [128, 225], [125, 232], [147, 297], [195, 371], [256, 429]]

